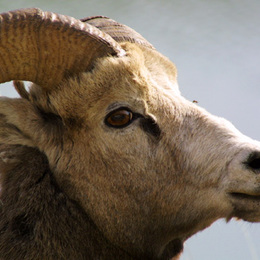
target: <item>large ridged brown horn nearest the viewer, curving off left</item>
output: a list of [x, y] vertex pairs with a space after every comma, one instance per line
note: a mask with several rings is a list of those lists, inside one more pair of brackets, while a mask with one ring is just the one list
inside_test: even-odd
[[0, 83], [27, 80], [50, 89], [107, 55], [124, 50], [75, 18], [34, 8], [0, 14]]

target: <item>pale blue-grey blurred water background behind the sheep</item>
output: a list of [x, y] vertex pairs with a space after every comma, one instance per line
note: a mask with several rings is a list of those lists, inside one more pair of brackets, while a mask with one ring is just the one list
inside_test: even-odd
[[[0, 0], [0, 12], [22, 7], [129, 25], [175, 62], [186, 98], [260, 140], [260, 0]], [[15, 95], [10, 84], [0, 92]], [[260, 224], [220, 220], [181, 259], [260, 260]]]

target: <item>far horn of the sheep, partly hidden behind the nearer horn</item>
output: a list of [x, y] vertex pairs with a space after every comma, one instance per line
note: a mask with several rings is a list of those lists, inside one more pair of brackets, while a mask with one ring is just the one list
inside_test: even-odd
[[141, 34], [132, 28], [124, 24], [120, 24], [108, 17], [92, 16], [81, 19], [81, 21], [97, 27], [102, 32], [109, 34], [117, 42], [133, 42], [154, 49], [153, 45], [149, 43]]

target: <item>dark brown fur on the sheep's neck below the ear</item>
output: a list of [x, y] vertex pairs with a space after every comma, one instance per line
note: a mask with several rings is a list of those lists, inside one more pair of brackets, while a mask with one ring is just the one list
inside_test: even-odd
[[1, 259], [132, 259], [58, 187], [37, 149], [1, 146]]

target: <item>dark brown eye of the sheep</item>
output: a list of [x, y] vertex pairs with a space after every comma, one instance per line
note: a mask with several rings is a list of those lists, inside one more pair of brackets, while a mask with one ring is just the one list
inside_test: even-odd
[[120, 128], [125, 127], [133, 120], [133, 113], [127, 109], [119, 109], [111, 112], [106, 117], [105, 123], [108, 126]]

